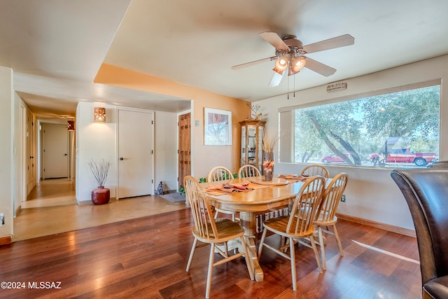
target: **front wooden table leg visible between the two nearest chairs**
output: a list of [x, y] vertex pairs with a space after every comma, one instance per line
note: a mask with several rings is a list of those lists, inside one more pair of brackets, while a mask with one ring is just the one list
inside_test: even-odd
[[255, 281], [263, 281], [263, 270], [258, 263], [258, 249], [255, 241], [255, 213], [250, 211], [239, 212], [239, 223], [244, 228], [244, 237], [248, 247], [249, 260], [251, 260]]

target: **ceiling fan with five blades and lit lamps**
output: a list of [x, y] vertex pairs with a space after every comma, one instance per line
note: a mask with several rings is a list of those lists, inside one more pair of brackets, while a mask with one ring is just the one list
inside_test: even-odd
[[295, 35], [286, 35], [281, 38], [275, 32], [262, 32], [260, 33], [260, 36], [262, 39], [265, 39], [265, 41], [274, 46], [275, 56], [244, 64], [238, 64], [233, 66], [232, 69], [242, 69], [244, 67], [260, 64], [262, 62], [275, 60], [275, 67], [273, 69], [274, 75], [269, 83], [270, 87], [280, 84], [281, 78], [283, 78], [283, 74], [286, 70], [288, 70], [288, 76], [297, 74], [303, 67], [311, 69], [311, 71], [316, 71], [316, 73], [325, 77], [335, 74], [336, 69], [328, 67], [328, 65], [312, 60], [304, 55], [323, 50], [350, 46], [355, 43], [355, 39], [350, 34], [337, 36], [332, 39], [326, 39], [325, 41], [318, 41], [317, 43], [310, 43], [307, 46], [303, 46], [302, 42], [299, 41]]

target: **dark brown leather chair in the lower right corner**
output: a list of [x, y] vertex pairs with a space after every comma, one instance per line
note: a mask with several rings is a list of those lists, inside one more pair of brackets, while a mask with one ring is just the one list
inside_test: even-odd
[[423, 298], [448, 298], [448, 168], [394, 169], [417, 237]]

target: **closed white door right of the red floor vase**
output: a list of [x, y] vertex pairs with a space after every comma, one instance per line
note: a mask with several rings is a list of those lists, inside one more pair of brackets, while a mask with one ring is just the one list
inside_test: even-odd
[[118, 198], [153, 194], [153, 112], [118, 110]]

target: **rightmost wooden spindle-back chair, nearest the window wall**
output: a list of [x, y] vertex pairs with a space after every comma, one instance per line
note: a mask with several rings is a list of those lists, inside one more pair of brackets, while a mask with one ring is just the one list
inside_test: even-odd
[[[325, 244], [323, 242], [322, 232], [335, 236], [337, 246], [339, 247], [339, 253], [341, 254], [341, 256], [344, 256], [341, 239], [339, 239], [339, 235], [337, 234], [336, 229], [336, 210], [339, 202], [341, 201], [341, 197], [344, 193], [348, 179], [349, 176], [346, 173], [341, 172], [330, 181], [328, 186], [325, 188], [320, 208], [318, 210], [318, 213], [316, 214], [316, 220], [314, 220], [314, 225], [316, 225], [316, 228], [318, 230], [318, 239], [319, 245], [321, 247], [323, 270], [327, 269], [327, 262], [325, 260]], [[332, 231], [328, 230], [330, 226], [332, 227]]]

